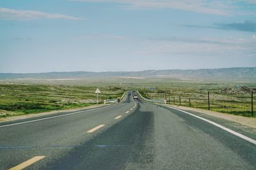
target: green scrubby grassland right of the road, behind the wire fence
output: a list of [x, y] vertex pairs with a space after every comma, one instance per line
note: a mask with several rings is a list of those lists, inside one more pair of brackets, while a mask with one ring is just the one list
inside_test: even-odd
[[[169, 85], [140, 89], [140, 94], [147, 99], [157, 99], [167, 104], [188, 106], [208, 110], [208, 92], [210, 110], [252, 117], [252, 90], [255, 83], [222, 83], [222, 82], [172, 82]], [[254, 90], [253, 101], [256, 101]], [[190, 99], [190, 104], [189, 104]], [[170, 100], [170, 101], [169, 101]], [[256, 117], [256, 104], [253, 103]]]

